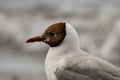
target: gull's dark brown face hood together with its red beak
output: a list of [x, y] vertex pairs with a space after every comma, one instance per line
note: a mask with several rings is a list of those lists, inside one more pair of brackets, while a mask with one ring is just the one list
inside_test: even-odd
[[66, 24], [64, 22], [50, 25], [41, 36], [36, 36], [27, 40], [31, 42], [44, 42], [51, 47], [56, 47], [62, 43], [66, 35]]

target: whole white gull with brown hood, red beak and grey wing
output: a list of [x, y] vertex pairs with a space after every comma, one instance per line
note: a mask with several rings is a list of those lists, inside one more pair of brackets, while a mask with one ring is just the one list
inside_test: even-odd
[[48, 80], [120, 80], [119, 68], [80, 49], [78, 34], [67, 22], [54, 23], [26, 42], [50, 46], [45, 60]]

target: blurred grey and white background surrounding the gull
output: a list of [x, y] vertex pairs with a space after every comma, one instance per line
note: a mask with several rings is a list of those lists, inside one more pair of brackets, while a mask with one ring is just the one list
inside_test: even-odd
[[60, 21], [81, 49], [120, 67], [120, 0], [0, 0], [0, 80], [47, 80], [49, 46], [25, 42]]

